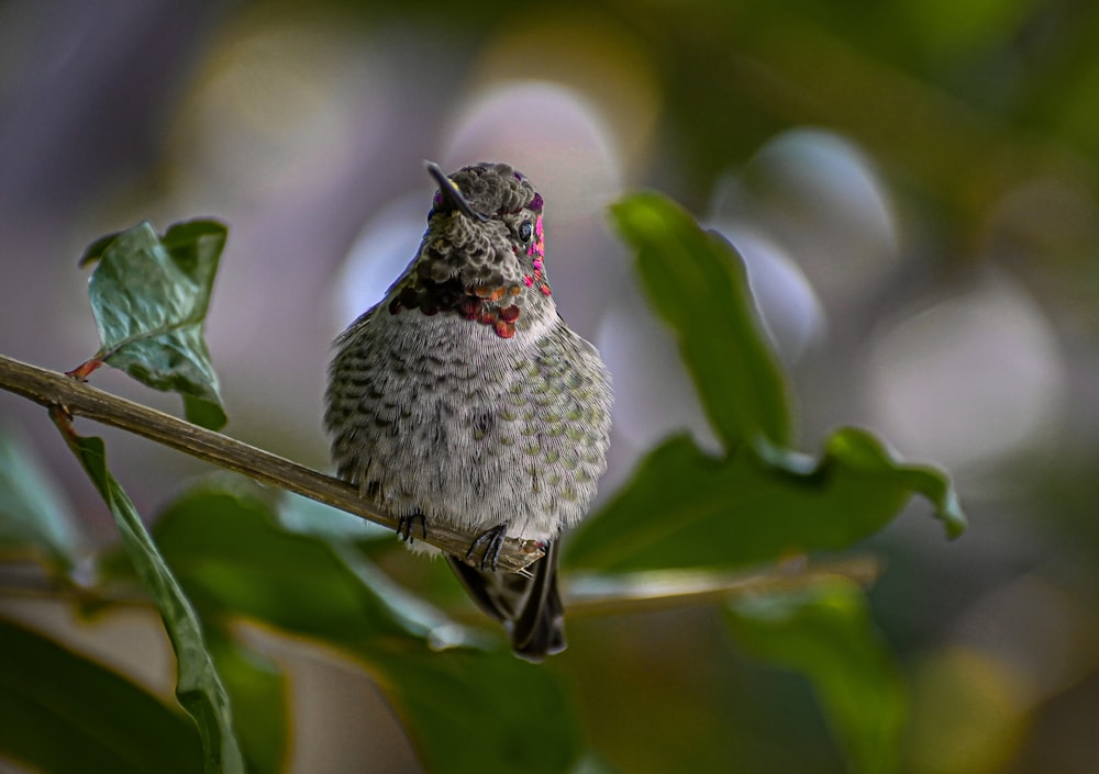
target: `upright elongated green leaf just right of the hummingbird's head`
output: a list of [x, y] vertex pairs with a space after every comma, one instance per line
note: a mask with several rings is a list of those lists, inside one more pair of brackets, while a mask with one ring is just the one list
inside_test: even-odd
[[611, 213], [637, 251], [648, 298], [675, 332], [725, 448], [761, 440], [785, 445], [790, 435], [788, 390], [762, 334], [736, 250], [657, 193], [626, 197]]

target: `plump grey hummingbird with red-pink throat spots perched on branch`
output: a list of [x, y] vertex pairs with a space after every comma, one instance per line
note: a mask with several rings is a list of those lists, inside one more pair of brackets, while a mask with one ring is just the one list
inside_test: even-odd
[[[610, 374], [562, 319], [546, 273], [543, 199], [506, 164], [444, 175], [415, 257], [335, 340], [324, 424], [340, 478], [398, 517], [476, 535], [446, 559], [530, 661], [565, 649], [564, 529], [587, 513], [610, 446]], [[498, 570], [506, 538], [545, 549]]]

